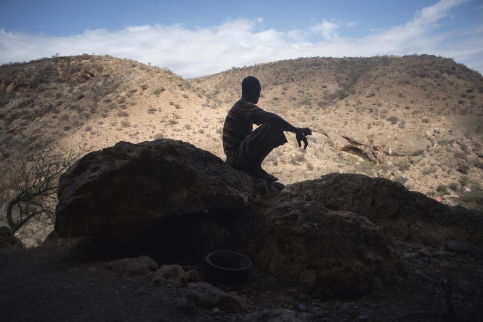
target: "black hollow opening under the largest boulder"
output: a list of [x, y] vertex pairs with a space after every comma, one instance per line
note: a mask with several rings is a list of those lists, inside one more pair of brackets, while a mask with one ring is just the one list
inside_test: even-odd
[[213, 209], [204, 213], [173, 214], [126, 238], [96, 236], [86, 245], [86, 260], [115, 260], [126, 257], [151, 257], [158, 265], [196, 265], [204, 256], [218, 250], [226, 227], [244, 209]]

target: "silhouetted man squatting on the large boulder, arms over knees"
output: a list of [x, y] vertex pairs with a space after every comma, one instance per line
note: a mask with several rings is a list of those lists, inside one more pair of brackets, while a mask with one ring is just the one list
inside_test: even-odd
[[[261, 86], [258, 79], [248, 76], [242, 82], [241, 99], [228, 112], [223, 126], [223, 149], [226, 162], [234, 169], [246, 171], [250, 176], [267, 181], [278, 178], [261, 168], [263, 159], [275, 147], [287, 142], [284, 131], [295, 133], [299, 147], [309, 144], [305, 136], [311, 135], [309, 128], [298, 128], [274, 113], [256, 106]], [[253, 131], [253, 123], [260, 125]]]

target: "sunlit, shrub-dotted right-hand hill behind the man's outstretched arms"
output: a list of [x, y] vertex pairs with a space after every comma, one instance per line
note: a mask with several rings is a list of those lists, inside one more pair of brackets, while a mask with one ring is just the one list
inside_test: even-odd
[[391, 178], [430, 195], [441, 184], [453, 194], [461, 183], [479, 187], [483, 78], [452, 59], [300, 58], [190, 81], [230, 106], [250, 74], [262, 84], [260, 107], [316, 131], [305, 153], [292, 139], [269, 156], [267, 170], [286, 182], [340, 171]]

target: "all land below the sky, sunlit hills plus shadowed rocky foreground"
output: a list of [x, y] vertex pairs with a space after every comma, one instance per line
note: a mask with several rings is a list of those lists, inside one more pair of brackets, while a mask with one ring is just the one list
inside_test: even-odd
[[[287, 133], [265, 159], [285, 189], [222, 162], [247, 75], [261, 108], [313, 130], [306, 150]], [[50, 218], [0, 230], [7, 320], [483, 319], [483, 77], [452, 59], [312, 57], [183, 79], [84, 54], [3, 65], [0, 79], [0, 225], [25, 155], [97, 151], [64, 176], [56, 231]], [[135, 245], [122, 235], [134, 230]], [[199, 260], [219, 249], [252, 259], [242, 287]]]

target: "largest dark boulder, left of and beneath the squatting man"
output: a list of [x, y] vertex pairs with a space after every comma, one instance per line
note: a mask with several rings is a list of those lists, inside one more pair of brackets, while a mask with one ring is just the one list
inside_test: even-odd
[[173, 214], [243, 208], [281, 187], [182, 141], [119, 142], [61, 176], [55, 230], [63, 238], [128, 236]]

